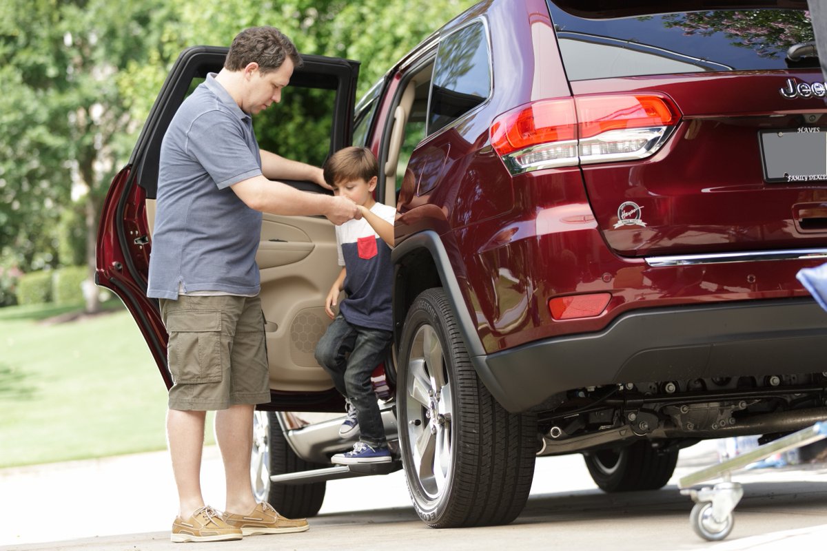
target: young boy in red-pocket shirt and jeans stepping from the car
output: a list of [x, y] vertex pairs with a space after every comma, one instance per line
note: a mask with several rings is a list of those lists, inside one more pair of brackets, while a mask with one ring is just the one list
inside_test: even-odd
[[[342, 272], [327, 293], [324, 305], [333, 322], [316, 347], [316, 360], [347, 398], [348, 417], [339, 435], [360, 435], [351, 451], [336, 454], [331, 461], [387, 463], [391, 460], [390, 451], [370, 374], [385, 359], [393, 336], [390, 249], [394, 246], [396, 209], [373, 198], [379, 167], [366, 148], [337, 151], [324, 164], [323, 173], [333, 193], [355, 202], [361, 212], [361, 220], [336, 227]], [[332, 306], [336, 306], [342, 289], [347, 298], [335, 315]]]

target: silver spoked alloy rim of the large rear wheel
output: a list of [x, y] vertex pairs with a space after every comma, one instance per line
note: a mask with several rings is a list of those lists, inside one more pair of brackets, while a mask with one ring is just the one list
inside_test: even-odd
[[451, 473], [453, 396], [442, 343], [431, 325], [422, 325], [414, 335], [405, 392], [414, 476], [433, 499], [445, 491]]

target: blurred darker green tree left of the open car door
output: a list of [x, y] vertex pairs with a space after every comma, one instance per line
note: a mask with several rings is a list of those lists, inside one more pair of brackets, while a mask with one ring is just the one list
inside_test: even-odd
[[[93, 276], [98, 213], [136, 131], [119, 77], [146, 64], [174, 12], [160, 0], [0, 4], [0, 254], [24, 271], [60, 264], [60, 212], [84, 212]], [[67, 259], [69, 261], [69, 259]], [[98, 309], [88, 293], [87, 310]]]

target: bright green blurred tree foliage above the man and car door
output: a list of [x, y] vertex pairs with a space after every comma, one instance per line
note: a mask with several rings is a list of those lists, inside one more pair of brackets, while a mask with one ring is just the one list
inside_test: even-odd
[[[200, 0], [182, 2], [164, 23], [157, 62], [124, 74], [122, 93], [136, 120], [149, 114], [169, 63], [188, 45], [230, 45], [246, 26], [279, 27], [303, 54], [330, 55], [361, 62], [356, 97], [396, 61], [472, 0], [432, 0], [412, 7], [403, 0]], [[287, 91], [289, 93], [289, 89]]]

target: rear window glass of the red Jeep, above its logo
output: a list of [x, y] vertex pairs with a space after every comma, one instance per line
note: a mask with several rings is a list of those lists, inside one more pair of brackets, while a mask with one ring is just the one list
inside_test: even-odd
[[753, 9], [576, 17], [549, 2], [569, 80], [645, 74], [818, 67], [786, 60], [814, 40], [809, 12]]

